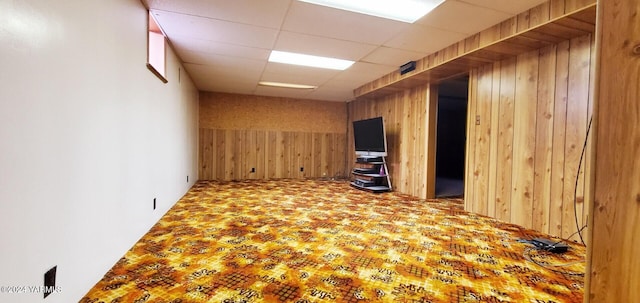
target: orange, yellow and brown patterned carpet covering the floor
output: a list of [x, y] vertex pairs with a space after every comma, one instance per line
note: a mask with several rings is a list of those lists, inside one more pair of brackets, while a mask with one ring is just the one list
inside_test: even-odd
[[200, 181], [80, 302], [582, 302], [584, 247], [531, 249], [541, 234], [461, 205]]

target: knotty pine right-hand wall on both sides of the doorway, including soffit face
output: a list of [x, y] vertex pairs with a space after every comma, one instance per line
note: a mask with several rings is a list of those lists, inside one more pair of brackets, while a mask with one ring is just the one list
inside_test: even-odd
[[[538, 27], [564, 14], [592, 7], [595, 0], [550, 0], [505, 20], [446, 49], [425, 57], [420, 68], [444, 65], [465, 52], [491, 45]], [[586, 189], [593, 176], [582, 146], [593, 112], [593, 23], [570, 19], [585, 33], [563, 40], [567, 26], [552, 26], [539, 49], [517, 47], [498, 50], [517, 56], [496, 60], [470, 70], [467, 127], [465, 208], [469, 211], [528, 228], [578, 240], [574, 234], [587, 223]], [[529, 33], [535, 34], [538, 32]], [[575, 36], [574, 36], [575, 37]], [[531, 37], [529, 37], [531, 38]], [[520, 37], [526, 42], [527, 37]], [[553, 39], [551, 39], [553, 38]], [[554, 40], [555, 39], [555, 40]], [[527, 48], [530, 49], [530, 48]], [[495, 50], [495, 49], [494, 49]], [[500, 58], [504, 58], [501, 56]], [[406, 75], [405, 77], [411, 77]], [[395, 189], [428, 196], [431, 182], [429, 151], [429, 85], [399, 83], [397, 72], [355, 90], [358, 100], [349, 105], [349, 121], [384, 116], [390, 144], [389, 162]], [[416, 83], [420, 83], [420, 77]], [[376, 93], [376, 91], [382, 91]], [[398, 92], [395, 92], [399, 90]], [[419, 93], [418, 93], [419, 92]], [[386, 95], [389, 93], [390, 95]], [[420, 95], [423, 103], [416, 103]], [[480, 123], [476, 125], [476, 118]], [[349, 137], [350, 135], [348, 135]], [[349, 138], [351, 140], [351, 138]], [[349, 148], [352, 143], [349, 143]], [[578, 167], [580, 170], [578, 171]], [[576, 186], [577, 180], [577, 186]], [[575, 195], [574, 195], [575, 191]], [[575, 196], [575, 208], [574, 208]], [[575, 216], [574, 216], [575, 215]], [[577, 217], [577, 220], [576, 220]], [[576, 224], [577, 221], [577, 224]], [[586, 231], [583, 232], [586, 234]]]

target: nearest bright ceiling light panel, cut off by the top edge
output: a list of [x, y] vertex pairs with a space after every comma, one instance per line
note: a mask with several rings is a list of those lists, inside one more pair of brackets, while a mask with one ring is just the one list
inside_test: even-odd
[[444, 0], [299, 0], [407, 23], [416, 22]]

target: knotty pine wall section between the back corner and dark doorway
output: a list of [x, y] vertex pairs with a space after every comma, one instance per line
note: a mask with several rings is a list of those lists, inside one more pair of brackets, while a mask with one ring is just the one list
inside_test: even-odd
[[349, 103], [348, 163], [355, 162], [351, 122], [382, 116], [387, 134], [388, 167], [395, 191], [426, 198], [434, 194], [435, 100], [437, 90], [419, 86], [376, 99]]

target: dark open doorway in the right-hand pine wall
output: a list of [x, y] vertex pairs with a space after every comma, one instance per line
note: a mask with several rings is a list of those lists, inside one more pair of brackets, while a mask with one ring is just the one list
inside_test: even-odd
[[467, 133], [469, 77], [438, 86], [436, 197], [462, 197]]

